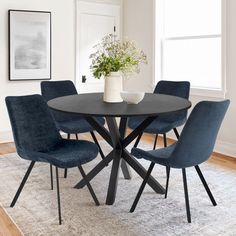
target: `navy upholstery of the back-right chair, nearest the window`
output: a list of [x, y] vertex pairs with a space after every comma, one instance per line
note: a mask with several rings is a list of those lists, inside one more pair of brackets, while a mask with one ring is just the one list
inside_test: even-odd
[[[182, 98], [189, 98], [190, 83], [188, 81], [159, 81], [156, 85], [154, 93], [167, 94], [172, 96], [178, 96]], [[157, 117], [145, 130], [146, 133], [152, 134], [164, 134], [183, 125], [186, 122], [187, 110], [176, 113], [170, 113]], [[129, 119], [128, 126], [131, 129], [135, 129], [142, 121], [144, 117], [133, 117]]]

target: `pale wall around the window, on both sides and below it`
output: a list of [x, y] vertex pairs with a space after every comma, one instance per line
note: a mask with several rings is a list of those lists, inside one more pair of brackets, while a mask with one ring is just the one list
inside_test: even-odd
[[[154, 79], [154, 1], [155, 0], [127, 0], [124, 1], [124, 36], [137, 41], [148, 54], [149, 65], [142, 69], [137, 81], [127, 83], [128, 87], [137, 90], [151, 91], [150, 85]], [[218, 135], [215, 150], [226, 155], [236, 157], [236, 1], [227, 1], [227, 68], [226, 68], [226, 98], [231, 100], [223, 125]], [[193, 105], [200, 100], [214, 100], [210, 97], [191, 96]], [[170, 134], [172, 135], [172, 134]]]

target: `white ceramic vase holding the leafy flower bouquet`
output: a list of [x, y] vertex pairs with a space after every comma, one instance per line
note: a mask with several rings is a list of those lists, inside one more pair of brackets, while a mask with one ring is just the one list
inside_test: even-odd
[[110, 103], [123, 102], [120, 92], [123, 90], [123, 77], [121, 72], [111, 72], [105, 78], [103, 101]]

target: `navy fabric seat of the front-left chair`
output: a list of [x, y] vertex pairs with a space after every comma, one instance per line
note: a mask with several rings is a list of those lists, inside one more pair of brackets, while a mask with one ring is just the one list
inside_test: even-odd
[[98, 155], [96, 144], [84, 140], [62, 139], [51, 151], [20, 151], [19, 155], [28, 160], [47, 162], [59, 168], [71, 168], [92, 161]]

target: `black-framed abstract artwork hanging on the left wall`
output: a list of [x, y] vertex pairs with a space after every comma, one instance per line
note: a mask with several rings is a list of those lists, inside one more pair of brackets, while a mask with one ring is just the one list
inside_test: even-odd
[[51, 12], [9, 10], [9, 80], [51, 79]]

